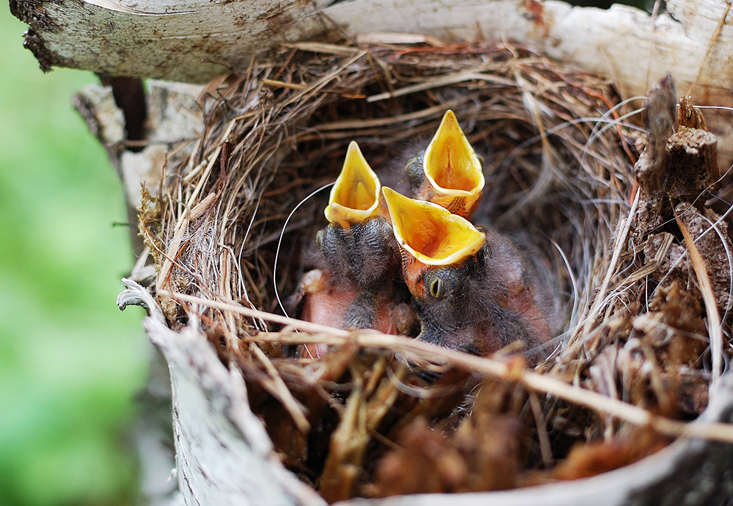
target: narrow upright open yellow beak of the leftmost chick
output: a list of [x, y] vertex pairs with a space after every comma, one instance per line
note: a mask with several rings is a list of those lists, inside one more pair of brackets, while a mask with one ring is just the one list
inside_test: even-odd
[[351, 141], [341, 174], [331, 189], [326, 219], [349, 228], [354, 223], [380, 216], [381, 190], [382, 184], [361, 154], [359, 145]]

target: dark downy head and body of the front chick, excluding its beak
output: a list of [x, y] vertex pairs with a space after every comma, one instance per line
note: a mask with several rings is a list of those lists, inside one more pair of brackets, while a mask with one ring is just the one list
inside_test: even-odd
[[498, 232], [484, 233], [475, 255], [408, 275], [421, 319], [418, 339], [483, 356], [518, 340], [528, 349], [547, 342], [549, 320], [521, 255]]

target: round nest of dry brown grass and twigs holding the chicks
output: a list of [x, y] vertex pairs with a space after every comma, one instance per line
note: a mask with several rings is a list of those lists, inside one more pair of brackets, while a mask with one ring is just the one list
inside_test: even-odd
[[[200, 97], [200, 138], [169, 157], [159, 197], [144, 191], [169, 326], [205, 330], [283, 463], [331, 502], [626, 465], [705, 409], [730, 350], [730, 243], [707, 205], [718, 176], [699, 112], [685, 102], [676, 119], [667, 83], [647, 137], [608, 78], [516, 45], [429, 42], [301, 43], [221, 76]], [[554, 295], [541, 360], [283, 308], [349, 142], [400, 174], [448, 109], [483, 156], [477, 216], [522, 245]], [[301, 358], [304, 343], [331, 348]]]

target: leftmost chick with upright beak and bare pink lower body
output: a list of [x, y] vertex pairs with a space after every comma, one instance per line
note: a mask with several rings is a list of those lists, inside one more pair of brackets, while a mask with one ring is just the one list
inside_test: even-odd
[[[301, 318], [341, 329], [409, 332], [414, 316], [402, 302], [399, 248], [385, 218], [379, 178], [356, 142], [349, 145], [341, 174], [325, 209], [329, 224], [316, 235], [320, 267], [305, 274]], [[326, 345], [307, 345], [302, 355], [321, 357]]]

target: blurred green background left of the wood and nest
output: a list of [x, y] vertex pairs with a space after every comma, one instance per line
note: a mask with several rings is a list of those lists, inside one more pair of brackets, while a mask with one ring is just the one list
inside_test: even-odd
[[121, 184], [71, 106], [89, 72], [43, 74], [0, 5], [0, 505], [136, 499], [142, 310]]

